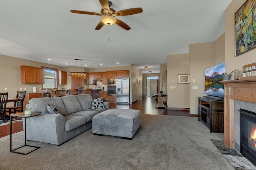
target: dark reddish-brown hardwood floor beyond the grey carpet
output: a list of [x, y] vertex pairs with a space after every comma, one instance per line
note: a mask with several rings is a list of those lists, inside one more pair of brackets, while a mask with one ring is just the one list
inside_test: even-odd
[[[117, 109], [138, 109], [141, 114], [149, 115], [176, 115], [176, 116], [190, 116], [189, 111], [184, 110], [168, 110], [164, 108], [156, 109], [157, 101], [155, 97], [143, 97], [133, 104], [110, 104], [110, 108]], [[22, 121], [12, 123], [12, 132], [17, 133], [23, 131]], [[0, 126], [0, 137], [10, 135], [10, 124]]]

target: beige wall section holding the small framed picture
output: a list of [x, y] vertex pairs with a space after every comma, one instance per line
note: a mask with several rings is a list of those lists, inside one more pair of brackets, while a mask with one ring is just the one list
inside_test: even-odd
[[[189, 84], [178, 84], [178, 74], [189, 74], [189, 54], [167, 56], [167, 105], [170, 108], [190, 108]], [[171, 89], [170, 86], [175, 86]]]

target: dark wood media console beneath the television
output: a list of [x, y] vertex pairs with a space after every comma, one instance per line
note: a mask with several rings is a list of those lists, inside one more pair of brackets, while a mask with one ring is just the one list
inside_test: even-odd
[[198, 97], [198, 121], [210, 132], [224, 133], [224, 102], [208, 97]]

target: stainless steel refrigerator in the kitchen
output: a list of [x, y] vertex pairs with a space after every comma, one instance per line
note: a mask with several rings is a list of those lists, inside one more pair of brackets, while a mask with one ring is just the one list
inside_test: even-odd
[[116, 103], [130, 104], [129, 78], [116, 78]]

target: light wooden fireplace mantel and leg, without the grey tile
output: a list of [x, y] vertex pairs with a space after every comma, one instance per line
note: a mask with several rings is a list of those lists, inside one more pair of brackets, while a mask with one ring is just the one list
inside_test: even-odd
[[235, 149], [234, 100], [256, 103], [256, 80], [228, 80], [224, 84], [224, 143]]

